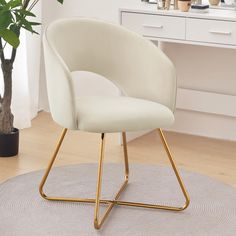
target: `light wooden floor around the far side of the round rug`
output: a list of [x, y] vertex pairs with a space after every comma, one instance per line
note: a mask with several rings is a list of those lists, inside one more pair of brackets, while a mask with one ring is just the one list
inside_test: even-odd
[[[44, 169], [50, 159], [61, 128], [47, 113], [40, 113], [30, 129], [21, 131], [20, 154], [0, 158], [0, 181]], [[236, 142], [166, 133], [166, 138], [180, 168], [211, 176], [236, 187]], [[100, 135], [69, 132], [56, 165], [97, 162]], [[169, 164], [157, 132], [152, 132], [128, 143], [130, 162]], [[118, 135], [109, 134], [106, 143], [107, 162], [120, 162], [122, 147]]]

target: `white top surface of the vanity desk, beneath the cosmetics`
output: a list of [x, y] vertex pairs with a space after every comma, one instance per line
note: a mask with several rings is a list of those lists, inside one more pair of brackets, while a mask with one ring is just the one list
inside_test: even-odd
[[127, 5], [120, 8], [120, 11], [185, 18], [236, 21], [235, 10], [209, 9], [209, 12], [207, 13], [196, 13], [191, 12], [191, 10], [189, 12], [181, 12], [179, 10], [157, 10], [156, 4], [148, 4], [145, 2], [127, 3]]

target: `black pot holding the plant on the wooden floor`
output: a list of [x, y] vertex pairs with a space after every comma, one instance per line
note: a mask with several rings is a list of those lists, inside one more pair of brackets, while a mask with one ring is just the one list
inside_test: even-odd
[[12, 157], [18, 154], [19, 130], [14, 128], [10, 134], [0, 133], [0, 157]]

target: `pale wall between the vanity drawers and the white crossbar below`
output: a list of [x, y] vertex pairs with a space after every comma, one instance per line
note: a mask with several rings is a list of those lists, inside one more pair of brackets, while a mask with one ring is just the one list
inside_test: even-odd
[[236, 50], [166, 43], [177, 68], [178, 86], [236, 96]]

